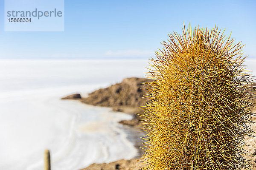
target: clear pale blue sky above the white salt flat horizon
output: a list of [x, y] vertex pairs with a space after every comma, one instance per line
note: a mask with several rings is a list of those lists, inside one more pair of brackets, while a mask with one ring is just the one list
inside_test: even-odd
[[[147, 59], [183, 22], [232, 31], [256, 58], [255, 0], [65, 0], [65, 31], [4, 31], [0, 17], [1, 59]], [[4, 11], [4, 0], [0, 0]]]

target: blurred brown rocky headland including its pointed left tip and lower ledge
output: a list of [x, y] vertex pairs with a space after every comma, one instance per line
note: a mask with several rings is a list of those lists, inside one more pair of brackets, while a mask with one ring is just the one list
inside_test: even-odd
[[145, 91], [146, 82], [152, 81], [152, 79], [132, 77], [123, 79], [122, 82], [108, 88], [93, 91], [85, 98], [81, 97], [80, 94], [73, 94], [62, 99], [79, 99], [79, 101], [88, 105], [111, 107], [113, 111], [133, 114], [134, 119], [122, 120], [119, 123], [140, 128], [139, 119], [143, 119], [143, 117], [137, 114], [143, 113], [140, 106], [143, 106], [147, 101], [144, 98], [147, 96]]

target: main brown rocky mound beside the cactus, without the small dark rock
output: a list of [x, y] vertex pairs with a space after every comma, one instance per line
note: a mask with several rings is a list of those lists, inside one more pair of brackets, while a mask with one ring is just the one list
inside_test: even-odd
[[145, 99], [143, 99], [143, 96], [146, 95], [143, 90], [146, 86], [145, 82], [151, 81], [151, 79], [144, 78], [127, 78], [108, 88], [101, 88], [90, 93], [81, 102], [104, 107], [138, 108], [145, 104]]

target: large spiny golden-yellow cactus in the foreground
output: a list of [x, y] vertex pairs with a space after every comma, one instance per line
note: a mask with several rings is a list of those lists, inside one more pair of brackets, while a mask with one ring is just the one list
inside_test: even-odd
[[252, 130], [252, 81], [241, 42], [224, 31], [183, 27], [169, 34], [151, 59], [145, 170], [238, 170], [249, 167], [242, 149]]

